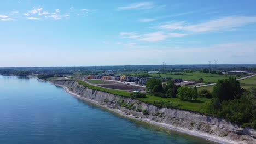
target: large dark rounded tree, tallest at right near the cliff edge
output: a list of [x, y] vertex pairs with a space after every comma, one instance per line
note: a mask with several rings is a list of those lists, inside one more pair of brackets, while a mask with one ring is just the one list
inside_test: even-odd
[[220, 101], [234, 100], [239, 98], [242, 92], [240, 82], [235, 77], [229, 77], [228, 79], [218, 80], [213, 88], [212, 95]]

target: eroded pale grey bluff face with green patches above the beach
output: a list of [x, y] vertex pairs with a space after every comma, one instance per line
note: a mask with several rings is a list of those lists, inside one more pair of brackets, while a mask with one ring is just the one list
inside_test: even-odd
[[[79, 85], [75, 81], [51, 81], [61, 85], [81, 97], [97, 101], [98, 104], [118, 109], [127, 115], [146, 119], [166, 125], [167, 128], [185, 130], [196, 133], [208, 139], [215, 139], [225, 143], [256, 143], [256, 132], [253, 129], [243, 129], [225, 119], [206, 116], [185, 110], [158, 108], [136, 99], [120, 97], [106, 92], [96, 91]], [[142, 112], [143, 110], [147, 110]]]

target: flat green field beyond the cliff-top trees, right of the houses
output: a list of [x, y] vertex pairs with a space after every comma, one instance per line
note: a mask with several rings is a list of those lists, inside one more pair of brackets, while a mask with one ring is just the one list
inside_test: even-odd
[[[183, 75], [177, 75], [183, 74]], [[193, 81], [199, 81], [200, 78], [203, 78], [203, 82], [206, 83], [215, 83], [220, 79], [226, 79], [226, 75], [218, 75], [218, 74], [206, 74], [201, 72], [193, 72], [193, 73], [184, 73], [184, 72], [177, 72], [170, 73], [170, 74], [160, 74], [161, 77], [171, 77], [171, 78], [182, 78], [183, 80], [193, 80]], [[158, 76], [158, 74], [150, 74], [152, 76]]]

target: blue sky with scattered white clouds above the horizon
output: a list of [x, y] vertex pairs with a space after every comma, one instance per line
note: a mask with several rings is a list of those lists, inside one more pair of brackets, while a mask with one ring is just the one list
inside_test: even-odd
[[0, 67], [256, 63], [256, 1], [0, 1]]

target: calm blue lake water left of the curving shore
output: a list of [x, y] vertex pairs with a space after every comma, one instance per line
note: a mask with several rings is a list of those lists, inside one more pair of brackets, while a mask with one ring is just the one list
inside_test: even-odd
[[0, 143], [213, 143], [129, 119], [28, 77], [0, 76]]

